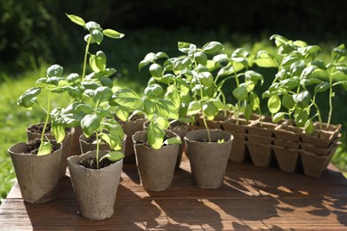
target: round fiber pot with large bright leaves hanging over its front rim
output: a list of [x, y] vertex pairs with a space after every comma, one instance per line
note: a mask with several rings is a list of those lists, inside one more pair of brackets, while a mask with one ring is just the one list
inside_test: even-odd
[[[166, 131], [166, 136], [168, 138], [178, 137], [171, 131]], [[133, 147], [141, 185], [146, 190], [163, 191], [173, 181], [173, 172], [180, 145], [166, 145], [154, 149], [146, 145], [146, 141], [146, 131], [136, 131], [133, 134]]]

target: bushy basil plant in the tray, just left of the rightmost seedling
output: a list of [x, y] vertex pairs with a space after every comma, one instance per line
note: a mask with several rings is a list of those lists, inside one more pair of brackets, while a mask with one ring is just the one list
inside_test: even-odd
[[[278, 46], [278, 54], [282, 60], [278, 62], [275, 58], [258, 55], [258, 65], [262, 66], [262, 60], [273, 59], [272, 64], [278, 64], [278, 73], [270, 85], [268, 91], [262, 94], [262, 98], [269, 98], [268, 108], [272, 115], [272, 121], [277, 123], [286, 115], [292, 123], [294, 116], [295, 125], [305, 129], [310, 134], [313, 131], [313, 118], [321, 114], [316, 103], [316, 94], [324, 92], [327, 84], [312, 75], [319, 67], [316, 56], [320, 51], [318, 45], [308, 45], [303, 41], [291, 41], [283, 36], [274, 35], [270, 39], [275, 40]], [[265, 59], [266, 58], [266, 59]], [[316, 84], [312, 93], [308, 86]], [[282, 99], [281, 99], [282, 97]], [[287, 112], [280, 112], [281, 107]], [[316, 109], [316, 113], [311, 116], [311, 108]]]

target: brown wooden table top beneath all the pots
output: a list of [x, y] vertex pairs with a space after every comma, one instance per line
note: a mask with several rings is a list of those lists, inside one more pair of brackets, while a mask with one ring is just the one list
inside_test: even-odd
[[23, 203], [17, 184], [0, 207], [0, 230], [347, 230], [347, 180], [333, 165], [319, 179], [276, 167], [229, 163], [219, 189], [192, 185], [183, 158], [171, 187], [149, 192], [135, 164], [125, 164], [115, 214], [106, 220], [80, 217], [69, 177], [52, 203]]

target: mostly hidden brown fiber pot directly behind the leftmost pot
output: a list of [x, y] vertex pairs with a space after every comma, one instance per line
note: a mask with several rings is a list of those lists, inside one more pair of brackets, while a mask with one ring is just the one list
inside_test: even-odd
[[[41, 128], [40, 132], [35, 132], [33, 131], [34, 129]], [[44, 123], [37, 123], [37, 124], [32, 124], [30, 126], [28, 126], [27, 128], [27, 137], [28, 137], [28, 141], [33, 140], [33, 139], [41, 139], [41, 132], [44, 128]], [[48, 129], [46, 129], [46, 134], [45, 137], [49, 140], [55, 140], [55, 137], [52, 135], [51, 132], [47, 132], [51, 131], [51, 123], [48, 123]], [[61, 144], [61, 178], [65, 176], [66, 173], [66, 168], [68, 165], [67, 159], [69, 156], [74, 155], [74, 153], [72, 152], [72, 142], [73, 142], [73, 136], [75, 133], [75, 129], [72, 128], [70, 131], [66, 131], [66, 135], [64, 140], [62, 140]]]

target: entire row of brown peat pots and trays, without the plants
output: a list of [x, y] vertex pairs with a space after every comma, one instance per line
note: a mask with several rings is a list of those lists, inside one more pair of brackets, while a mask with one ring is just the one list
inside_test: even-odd
[[[61, 145], [52, 142], [55, 151], [51, 155], [26, 154], [27, 143], [10, 147], [9, 153], [24, 201], [52, 201], [57, 196], [58, 181], [65, 175], [69, 163], [78, 211], [87, 219], [106, 219], [114, 212], [123, 163], [134, 163], [135, 159], [141, 185], [146, 190], [161, 191], [170, 186], [174, 171], [180, 166], [183, 151], [190, 160], [194, 185], [218, 188], [222, 185], [228, 159], [241, 163], [247, 159], [247, 155], [258, 167], [268, 167], [276, 158], [282, 171], [293, 172], [302, 165], [306, 175], [319, 177], [340, 144], [340, 125], [331, 125], [327, 131], [317, 130], [317, 134], [308, 136], [286, 123], [278, 125], [266, 121], [257, 119], [246, 122], [240, 118], [238, 122], [234, 119], [209, 122], [210, 139], [214, 142], [206, 142], [207, 131], [202, 126], [179, 125], [167, 131], [166, 138], [180, 137], [182, 145], [169, 144], [160, 149], [148, 146], [143, 119], [123, 124], [125, 149], [122, 151], [125, 158], [116, 162], [103, 158], [100, 170], [90, 168], [95, 164], [96, 152], [85, 147], [88, 140], [78, 129], [67, 131]], [[28, 139], [32, 139], [31, 135], [28, 135]], [[101, 150], [104, 149], [108, 147], [101, 147]], [[219, 153], [220, 158], [211, 158], [214, 153]], [[101, 151], [100, 157], [106, 154], [106, 151]]]

